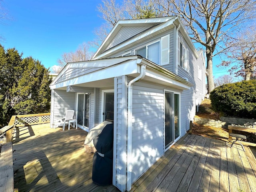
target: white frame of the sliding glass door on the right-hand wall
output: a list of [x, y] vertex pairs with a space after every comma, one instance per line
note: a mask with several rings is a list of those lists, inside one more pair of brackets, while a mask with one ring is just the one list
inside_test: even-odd
[[[181, 101], [180, 101], [180, 92], [175, 92], [175, 91], [172, 91], [172, 90], [167, 90], [167, 89], [164, 89], [164, 97], [165, 97], [165, 93], [168, 92], [168, 93], [173, 93], [173, 94], [178, 94], [179, 95], [179, 132], [180, 132], [180, 128], [181, 128], [181, 124], [180, 124], [180, 111], [181, 111]], [[165, 98], [164, 98], [164, 106], [165, 106]], [[181, 132], [180, 132], [181, 133]], [[173, 146], [179, 139], [180, 139], [180, 133], [179, 133], [179, 136], [178, 138], [175, 139], [174, 137], [174, 142], [172, 144], [170, 144], [170, 146], [168, 146], [167, 148], [165, 148], [165, 109], [164, 109], [164, 152], [166, 152], [168, 149], [170, 149], [171, 146]]]

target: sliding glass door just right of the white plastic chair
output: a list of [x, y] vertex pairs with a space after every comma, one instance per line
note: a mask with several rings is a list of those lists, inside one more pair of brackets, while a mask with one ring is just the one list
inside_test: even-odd
[[78, 94], [77, 123], [89, 128], [90, 94]]

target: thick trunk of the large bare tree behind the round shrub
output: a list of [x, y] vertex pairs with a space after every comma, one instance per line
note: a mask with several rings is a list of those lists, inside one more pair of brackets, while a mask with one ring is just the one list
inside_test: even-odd
[[212, 53], [209, 49], [206, 49], [206, 60], [207, 93], [210, 93], [214, 89], [214, 80], [212, 74]]

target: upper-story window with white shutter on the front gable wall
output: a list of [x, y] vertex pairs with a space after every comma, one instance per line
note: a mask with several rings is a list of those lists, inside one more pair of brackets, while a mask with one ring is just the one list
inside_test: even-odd
[[140, 55], [158, 65], [169, 64], [169, 40], [170, 36], [166, 35], [158, 41], [135, 50], [135, 54]]

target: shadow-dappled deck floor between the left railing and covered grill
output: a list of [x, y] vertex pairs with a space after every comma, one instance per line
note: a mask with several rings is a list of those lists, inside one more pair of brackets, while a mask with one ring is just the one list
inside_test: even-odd
[[19, 192], [118, 191], [92, 182], [92, 153], [84, 152], [87, 132], [52, 129], [49, 124], [14, 132], [14, 188]]

